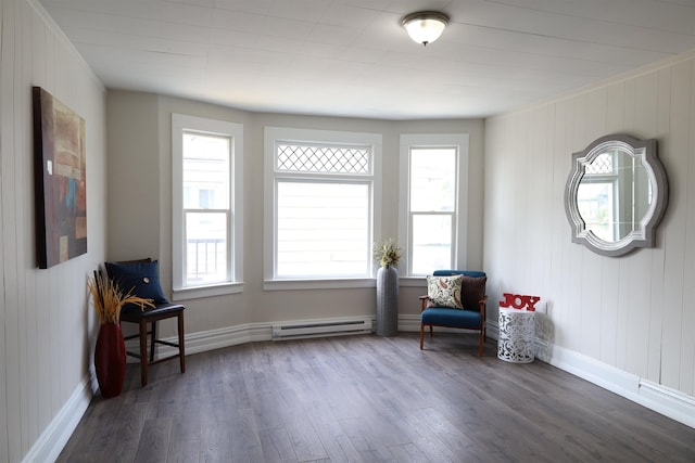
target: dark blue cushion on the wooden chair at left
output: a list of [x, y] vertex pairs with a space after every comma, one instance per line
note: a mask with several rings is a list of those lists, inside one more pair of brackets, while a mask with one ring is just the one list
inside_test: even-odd
[[[106, 272], [122, 291], [157, 304], [168, 304], [160, 284], [159, 261], [106, 262]], [[139, 306], [138, 306], [139, 309]]]

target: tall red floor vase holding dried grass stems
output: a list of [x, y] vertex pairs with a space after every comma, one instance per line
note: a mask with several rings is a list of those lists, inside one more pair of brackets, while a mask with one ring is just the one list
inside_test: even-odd
[[94, 369], [102, 397], [116, 397], [126, 376], [126, 345], [118, 323], [102, 324], [94, 349]]

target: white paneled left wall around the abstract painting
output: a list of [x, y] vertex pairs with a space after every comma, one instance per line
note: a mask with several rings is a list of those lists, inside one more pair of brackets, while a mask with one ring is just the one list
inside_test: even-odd
[[[67, 403], [89, 396], [98, 323], [87, 276], [105, 254], [105, 92], [35, 0], [2, 0], [0, 25], [0, 461], [18, 462], [39, 441], [66, 438]], [[87, 130], [88, 253], [49, 270], [36, 268], [34, 250], [33, 86]]]

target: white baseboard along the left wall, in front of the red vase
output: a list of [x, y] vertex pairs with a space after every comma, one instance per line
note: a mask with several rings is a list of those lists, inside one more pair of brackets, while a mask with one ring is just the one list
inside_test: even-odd
[[91, 398], [90, 380], [86, 377], [34, 442], [22, 462], [43, 463], [55, 461], [77, 427], [79, 420], [87, 411]]

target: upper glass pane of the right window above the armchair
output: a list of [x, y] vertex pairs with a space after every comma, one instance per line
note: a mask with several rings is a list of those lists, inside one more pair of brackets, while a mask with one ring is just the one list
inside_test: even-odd
[[410, 210], [452, 211], [456, 206], [456, 150], [410, 150]]

